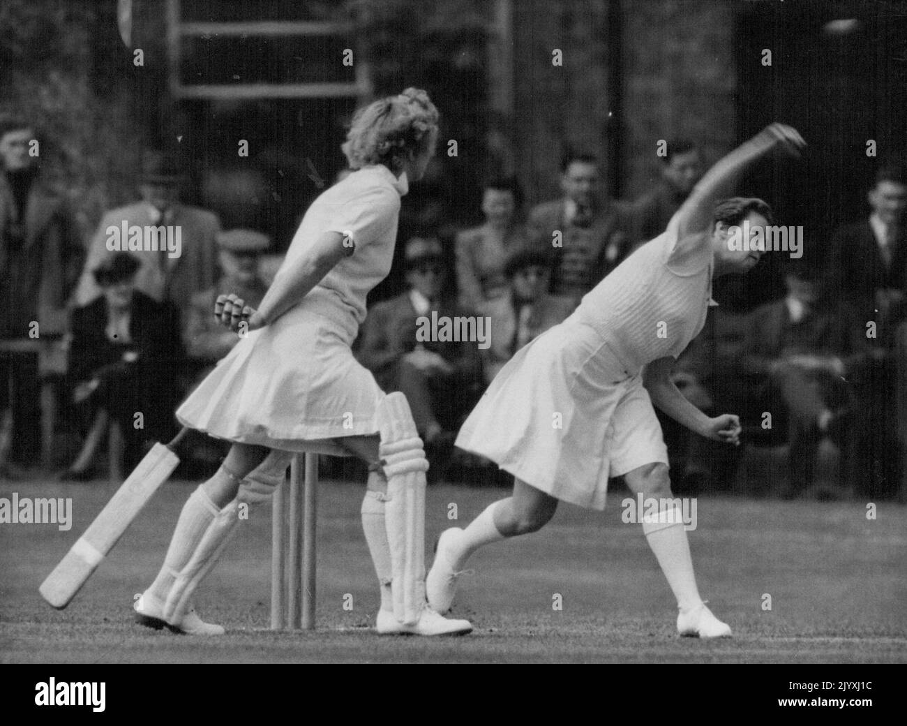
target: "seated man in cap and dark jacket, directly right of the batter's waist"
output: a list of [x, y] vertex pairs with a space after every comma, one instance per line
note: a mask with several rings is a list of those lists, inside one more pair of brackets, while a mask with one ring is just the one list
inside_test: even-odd
[[481, 395], [482, 360], [475, 341], [416, 340], [417, 319], [466, 315], [442, 296], [444, 266], [438, 240], [405, 244], [409, 289], [368, 311], [356, 355], [385, 392], [403, 391], [426, 447], [443, 449]]

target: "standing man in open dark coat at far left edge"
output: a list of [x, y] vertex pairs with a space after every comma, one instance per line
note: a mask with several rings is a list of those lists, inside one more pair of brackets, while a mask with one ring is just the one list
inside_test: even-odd
[[[62, 335], [84, 259], [63, 200], [42, 179], [35, 136], [31, 123], [0, 118], [0, 339]], [[0, 358], [0, 410], [12, 413], [10, 458], [17, 464], [38, 458], [39, 401], [37, 356]]]

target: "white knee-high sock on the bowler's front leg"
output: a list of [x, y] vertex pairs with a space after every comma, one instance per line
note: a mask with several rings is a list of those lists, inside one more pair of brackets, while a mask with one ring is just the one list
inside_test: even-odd
[[677, 505], [659, 511], [657, 515], [646, 514], [642, 518], [642, 531], [649, 541], [649, 547], [665, 574], [671, 591], [677, 598], [678, 607], [688, 610], [702, 603], [693, 573], [693, 558], [689, 554], [687, 530], [684, 529], [683, 515]]

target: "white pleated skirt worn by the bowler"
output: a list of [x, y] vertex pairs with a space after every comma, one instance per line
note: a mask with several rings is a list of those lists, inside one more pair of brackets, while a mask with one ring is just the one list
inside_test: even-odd
[[501, 369], [456, 445], [574, 505], [603, 509], [612, 476], [668, 464], [641, 371], [576, 319], [536, 338]]

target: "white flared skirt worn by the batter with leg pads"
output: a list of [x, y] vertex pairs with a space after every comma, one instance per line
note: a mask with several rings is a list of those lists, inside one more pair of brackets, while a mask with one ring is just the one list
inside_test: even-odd
[[356, 329], [346, 310], [304, 299], [241, 338], [176, 416], [228, 441], [349, 456], [333, 440], [377, 433], [385, 395], [353, 357]]

